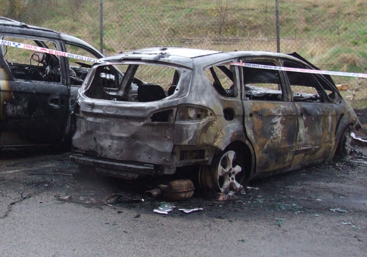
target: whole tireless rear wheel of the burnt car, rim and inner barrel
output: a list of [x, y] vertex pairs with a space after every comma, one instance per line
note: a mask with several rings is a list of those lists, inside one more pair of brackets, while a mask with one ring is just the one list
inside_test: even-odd
[[201, 187], [215, 189], [221, 193], [236, 193], [242, 190], [245, 179], [243, 164], [233, 150], [215, 157], [210, 166], [203, 166], [199, 172]]

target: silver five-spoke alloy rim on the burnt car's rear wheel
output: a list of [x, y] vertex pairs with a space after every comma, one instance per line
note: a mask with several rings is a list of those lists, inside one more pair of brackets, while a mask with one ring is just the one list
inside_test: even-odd
[[243, 167], [236, 160], [235, 151], [225, 152], [216, 167], [218, 188], [222, 193], [238, 192], [242, 190], [241, 182], [244, 178]]

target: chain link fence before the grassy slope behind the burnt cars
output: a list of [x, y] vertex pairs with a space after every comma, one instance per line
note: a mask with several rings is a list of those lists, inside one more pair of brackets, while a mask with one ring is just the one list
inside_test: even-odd
[[[1, 3], [1, 1], [3, 3]], [[220, 51], [276, 51], [275, 1], [249, 8], [246, 1], [0, 0], [1, 15], [68, 33], [100, 48], [103, 3], [105, 55], [150, 46]], [[16, 3], [24, 10], [16, 12]], [[26, 3], [26, 4], [25, 4]], [[163, 4], [165, 3], [165, 4]], [[315, 11], [280, 1], [280, 51], [296, 51], [320, 69], [365, 73], [367, 13]], [[366, 12], [366, 10], [362, 10]], [[342, 94], [367, 107], [367, 80], [333, 77], [348, 84]]]

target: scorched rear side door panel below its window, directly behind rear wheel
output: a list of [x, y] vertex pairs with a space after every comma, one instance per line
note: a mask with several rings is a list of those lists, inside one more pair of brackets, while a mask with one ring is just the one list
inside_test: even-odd
[[292, 102], [244, 102], [247, 137], [257, 156], [256, 172], [289, 167], [295, 152], [297, 116]]

